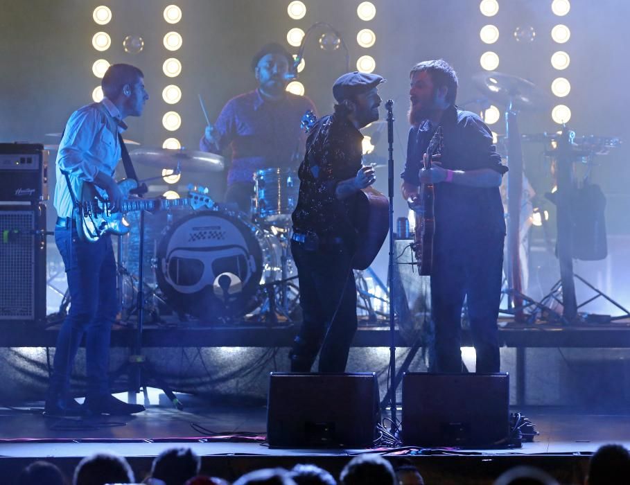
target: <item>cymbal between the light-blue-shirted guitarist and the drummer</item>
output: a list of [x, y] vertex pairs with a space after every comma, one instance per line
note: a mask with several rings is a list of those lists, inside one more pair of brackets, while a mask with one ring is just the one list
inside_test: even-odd
[[195, 150], [170, 150], [169, 148], [137, 148], [129, 152], [133, 161], [155, 168], [175, 170], [180, 164], [182, 172], [220, 172], [225, 167], [223, 157], [215, 153]]

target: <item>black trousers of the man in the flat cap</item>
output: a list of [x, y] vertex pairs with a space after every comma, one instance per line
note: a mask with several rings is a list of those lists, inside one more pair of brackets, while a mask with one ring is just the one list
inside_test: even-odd
[[358, 326], [351, 253], [344, 245], [307, 251], [296, 241], [291, 252], [303, 316], [290, 353], [291, 371], [310, 372], [320, 353], [320, 372], [344, 372]]

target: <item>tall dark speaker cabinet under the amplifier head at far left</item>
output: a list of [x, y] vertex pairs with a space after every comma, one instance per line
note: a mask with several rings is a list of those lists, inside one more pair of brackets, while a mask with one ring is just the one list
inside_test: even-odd
[[0, 204], [0, 322], [46, 317], [46, 206]]

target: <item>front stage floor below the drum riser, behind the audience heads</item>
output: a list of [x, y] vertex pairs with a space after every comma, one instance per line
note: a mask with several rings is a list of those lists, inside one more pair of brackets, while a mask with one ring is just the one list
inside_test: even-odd
[[[19, 411], [1, 409], [3, 482], [12, 483], [19, 470], [35, 459], [53, 461], [71, 476], [82, 457], [103, 450], [127, 457], [139, 482], [159, 452], [173, 446], [189, 446], [202, 456], [202, 473], [229, 481], [257, 468], [291, 468], [298, 463], [317, 464], [338, 476], [353, 455], [372, 452], [394, 462], [410, 459], [421, 470], [426, 483], [455, 484], [465, 480], [466, 484], [491, 484], [507, 468], [527, 464], [548, 470], [563, 484], [581, 484], [588, 457], [599, 446], [630, 445], [629, 415], [529, 407], [518, 411], [535, 423], [540, 434], [533, 443], [523, 443], [522, 448], [275, 449], [264, 441], [265, 407], [220, 407], [190, 396], [182, 396], [182, 401], [186, 405], [182, 412], [164, 403], [152, 405], [131, 418], [94, 420], [44, 418], [42, 403], [33, 403], [32, 408]], [[200, 427], [195, 430], [193, 424]], [[205, 432], [199, 432], [202, 429]]]

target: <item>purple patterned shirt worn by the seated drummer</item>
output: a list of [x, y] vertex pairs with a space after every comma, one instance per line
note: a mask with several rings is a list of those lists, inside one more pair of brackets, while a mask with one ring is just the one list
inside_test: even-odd
[[214, 124], [217, 143], [202, 136], [199, 148], [220, 153], [231, 145], [228, 185], [253, 182], [254, 172], [261, 168], [297, 168], [306, 139], [300, 120], [308, 109], [315, 112], [305, 96], [286, 93], [282, 100], [271, 101], [258, 89], [241, 94], [227, 102]]

